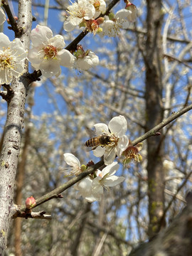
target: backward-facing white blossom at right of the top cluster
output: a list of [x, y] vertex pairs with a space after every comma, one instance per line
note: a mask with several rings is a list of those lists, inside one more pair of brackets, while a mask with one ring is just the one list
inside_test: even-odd
[[[129, 21], [127, 20], [127, 11], [122, 9], [117, 11], [117, 13], [105, 16], [105, 21], [102, 23], [102, 33], [101, 36], [115, 37], [118, 35], [120, 28], [129, 28]], [[131, 12], [130, 12], [131, 14]]]

